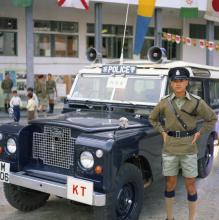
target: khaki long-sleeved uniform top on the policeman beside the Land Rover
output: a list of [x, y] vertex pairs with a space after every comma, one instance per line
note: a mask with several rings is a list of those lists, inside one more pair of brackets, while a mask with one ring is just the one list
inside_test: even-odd
[[[214, 111], [200, 97], [186, 92], [186, 96], [182, 99], [180, 98], [181, 100], [176, 98], [175, 94], [164, 97], [151, 112], [149, 121], [160, 133], [163, 131], [185, 131], [176, 119], [175, 114], [170, 109], [168, 98], [173, 100], [172, 103], [177, 113], [180, 115], [180, 118], [187, 125], [188, 130], [192, 130], [197, 127], [198, 119], [204, 120], [204, 123], [199, 130], [201, 134], [214, 127], [214, 124], [217, 121], [217, 116]], [[194, 111], [198, 101], [199, 104], [195, 111], [195, 115], [188, 114]], [[164, 119], [164, 125], [159, 122], [160, 117]], [[197, 145], [192, 144], [193, 138], [194, 135], [182, 138], [167, 135], [163, 152], [174, 155], [195, 154], [198, 150]]]

